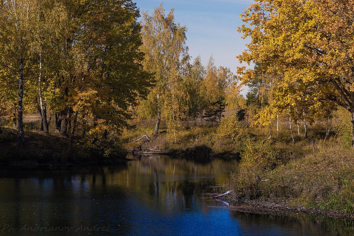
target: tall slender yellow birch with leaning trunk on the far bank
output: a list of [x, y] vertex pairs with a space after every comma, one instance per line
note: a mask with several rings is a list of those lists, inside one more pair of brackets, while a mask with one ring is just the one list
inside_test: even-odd
[[[163, 4], [152, 15], [143, 12], [141, 50], [145, 53], [144, 68], [154, 73], [156, 85], [148, 96], [156, 110], [156, 125], [153, 136], [158, 135], [162, 111], [169, 124], [178, 125], [178, 85], [188, 62], [188, 47], [185, 44], [186, 26], [175, 23], [173, 9], [165, 16]], [[174, 132], [175, 133], [175, 132]]]

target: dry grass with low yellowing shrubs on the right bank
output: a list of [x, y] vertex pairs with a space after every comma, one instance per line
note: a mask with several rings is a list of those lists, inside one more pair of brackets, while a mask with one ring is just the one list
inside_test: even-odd
[[354, 214], [354, 153], [340, 138], [324, 139], [321, 128], [315, 124], [309, 129], [314, 144], [297, 134], [293, 144], [287, 133], [280, 133], [270, 144], [281, 164], [258, 172], [261, 179], [269, 181], [235, 176], [235, 190], [246, 185], [252, 194], [243, 197]]

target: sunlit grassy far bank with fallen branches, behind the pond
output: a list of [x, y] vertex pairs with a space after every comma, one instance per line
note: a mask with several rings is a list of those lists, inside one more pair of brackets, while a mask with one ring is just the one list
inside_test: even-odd
[[[163, 125], [160, 126], [159, 135], [153, 138], [152, 134], [155, 127], [150, 123], [139, 124], [137, 128], [123, 132], [122, 136], [119, 137], [119, 142], [128, 152], [134, 152], [142, 147], [169, 154], [199, 157], [239, 155], [241, 142], [219, 138], [216, 123], [194, 124], [193, 122], [185, 122], [183, 127], [183, 130], [177, 134], [177, 142], [168, 141], [167, 127]], [[139, 142], [134, 142], [143, 135], [147, 135], [151, 140], [142, 139]]]

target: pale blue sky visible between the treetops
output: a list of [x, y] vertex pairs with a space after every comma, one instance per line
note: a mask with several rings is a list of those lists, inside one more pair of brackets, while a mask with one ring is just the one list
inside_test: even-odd
[[[161, 0], [133, 0], [140, 11], [153, 13]], [[237, 28], [242, 25], [240, 14], [253, 0], [165, 0], [167, 15], [175, 9], [175, 21], [186, 25], [187, 45], [192, 60], [201, 56], [204, 65], [213, 55], [216, 66], [229, 67], [236, 73], [240, 63], [235, 56], [246, 49], [249, 39], [241, 39]], [[245, 88], [243, 94], [247, 91]]]

